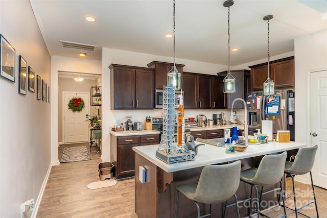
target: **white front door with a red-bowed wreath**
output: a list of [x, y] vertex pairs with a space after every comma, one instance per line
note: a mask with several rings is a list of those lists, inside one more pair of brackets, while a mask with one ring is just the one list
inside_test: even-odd
[[[64, 92], [63, 95], [63, 142], [88, 142], [89, 129], [86, 114], [89, 114], [89, 93]], [[74, 97], [82, 98], [85, 103], [81, 112], [68, 109], [68, 103]]]

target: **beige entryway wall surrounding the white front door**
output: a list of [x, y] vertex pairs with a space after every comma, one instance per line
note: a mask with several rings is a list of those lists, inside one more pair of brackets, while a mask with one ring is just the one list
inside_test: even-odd
[[[76, 92], [90, 92], [91, 86], [96, 85], [97, 80], [83, 80], [81, 82], [75, 81], [73, 78], [59, 78], [58, 79], [58, 141], [62, 140], [62, 92], [76, 91]], [[95, 106], [90, 106], [89, 114], [98, 114]], [[101, 110], [101, 107], [97, 107]]]

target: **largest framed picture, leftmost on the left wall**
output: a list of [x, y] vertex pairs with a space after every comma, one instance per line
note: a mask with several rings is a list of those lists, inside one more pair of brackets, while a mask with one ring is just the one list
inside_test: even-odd
[[0, 49], [0, 76], [15, 82], [15, 60], [16, 50], [14, 47], [0, 34], [1, 49]]

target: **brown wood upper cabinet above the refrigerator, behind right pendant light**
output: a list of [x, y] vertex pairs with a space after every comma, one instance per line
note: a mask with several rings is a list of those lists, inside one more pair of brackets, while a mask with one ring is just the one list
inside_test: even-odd
[[[251, 68], [251, 78], [254, 91], [262, 91], [268, 77], [268, 63], [262, 63]], [[270, 79], [275, 88], [294, 87], [294, 56], [270, 62]]]

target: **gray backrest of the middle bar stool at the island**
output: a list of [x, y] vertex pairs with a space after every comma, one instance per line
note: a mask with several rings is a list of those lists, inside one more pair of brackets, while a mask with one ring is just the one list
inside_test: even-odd
[[252, 179], [256, 185], [273, 185], [282, 179], [285, 168], [287, 152], [282, 154], [265, 155]]

